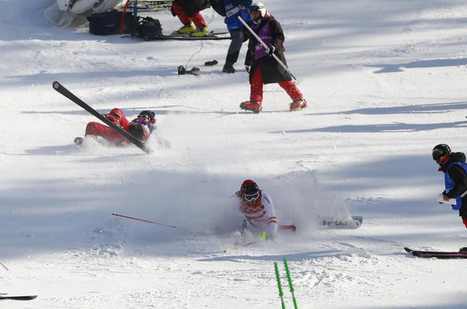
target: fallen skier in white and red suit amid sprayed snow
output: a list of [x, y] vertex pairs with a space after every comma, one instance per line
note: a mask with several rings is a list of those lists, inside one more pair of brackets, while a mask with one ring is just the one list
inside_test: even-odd
[[258, 232], [261, 239], [273, 239], [279, 225], [271, 196], [260, 190], [253, 180], [245, 180], [236, 196], [239, 198], [240, 212], [246, 217], [242, 225], [242, 236], [250, 230]]

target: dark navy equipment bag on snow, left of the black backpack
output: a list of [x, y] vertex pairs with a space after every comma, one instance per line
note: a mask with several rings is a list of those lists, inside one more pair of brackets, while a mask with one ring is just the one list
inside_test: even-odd
[[[89, 16], [89, 32], [97, 36], [109, 36], [110, 34], [120, 34], [123, 12], [111, 11]], [[123, 24], [123, 33], [133, 32], [133, 13], [126, 12]]]

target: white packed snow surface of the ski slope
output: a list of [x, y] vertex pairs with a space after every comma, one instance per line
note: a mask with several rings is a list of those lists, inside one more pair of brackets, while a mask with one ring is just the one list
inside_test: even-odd
[[[308, 108], [289, 112], [270, 84], [260, 114], [239, 108], [246, 45], [226, 74], [228, 40], [93, 36], [50, 24], [51, 4], [0, 0], [0, 293], [38, 295], [1, 308], [280, 308], [273, 262], [292, 308], [283, 258], [299, 308], [466, 307], [465, 260], [403, 250], [467, 245], [457, 212], [437, 203], [431, 159], [439, 143], [467, 151], [464, 1], [265, 1]], [[141, 14], [166, 34], [181, 26], [168, 11]], [[181, 65], [200, 75], [177, 75]], [[56, 80], [102, 113], [153, 110], [154, 151], [76, 147], [96, 119]], [[297, 232], [234, 247], [232, 195], [248, 178]], [[364, 221], [319, 227], [325, 215]]]

